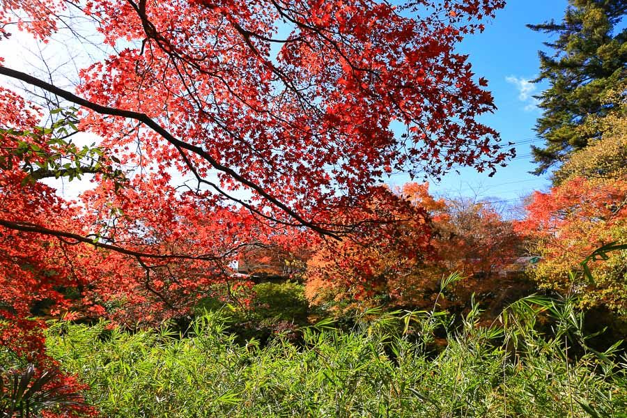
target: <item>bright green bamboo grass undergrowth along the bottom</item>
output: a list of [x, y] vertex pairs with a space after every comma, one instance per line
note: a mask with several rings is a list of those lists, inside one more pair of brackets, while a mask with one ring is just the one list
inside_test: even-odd
[[107, 417], [627, 417], [626, 359], [588, 347], [573, 301], [479, 317], [370, 310], [241, 343], [222, 310], [185, 333], [53, 322], [47, 345]]

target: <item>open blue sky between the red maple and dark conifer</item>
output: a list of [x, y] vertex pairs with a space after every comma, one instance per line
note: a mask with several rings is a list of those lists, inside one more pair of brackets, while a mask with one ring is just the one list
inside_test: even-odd
[[[460, 52], [470, 54], [477, 77], [488, 79], [488, 88], [495, 96], [497, 111], [481, 118], [483, 123], [494, 127], [506, 141], [522, 142], [516, 146], [519, 157], [500, 168], [489, 178], [472, 169], [449, 173], [440, 183], [431, 181], [431, 190], [451, 196], [474, 196], [493, 201], [513, 201], [533, 190], [546, 189], [550, 182], [545, 176], [530, 174], [534, 164], [529, 141], [542, 144], [533, 131], [540, 115], [532, 95], [542, 90], [542, 84], [529, 84], [539, 72], [538, 50], [543, 49], [547, 36], [527, 29], [525, 24], [546, 20], [561, 20], [566, 10], [566, 0], [509, 0], [503, 10], [486, 30], [466, 38]], [[394, 176], [386, 183], [402, 185], [408, 176]]]

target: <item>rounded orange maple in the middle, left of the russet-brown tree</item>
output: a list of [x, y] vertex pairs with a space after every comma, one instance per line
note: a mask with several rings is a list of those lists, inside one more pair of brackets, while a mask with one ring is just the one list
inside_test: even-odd
[[[313, 304], [342, 311], [356, 302], [413, 303], [415, 291], [424, 295], [417, 271], [433, 256], [428, 214], [385, 187], [378, 194], [366, 209], [344, 215], [359, 219], [359, 229], [342, 240], [323, 240], [309, 259], [305, 293]], [[369, 222], [373, 215], [376, 222]]]

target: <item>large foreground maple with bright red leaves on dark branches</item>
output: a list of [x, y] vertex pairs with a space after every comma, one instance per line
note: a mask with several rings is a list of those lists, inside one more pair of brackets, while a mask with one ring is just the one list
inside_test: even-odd
[[[40, 93], [0, 92], [3, 345], [42, 352], [20, 328], [36, 301], [52, 314], [184, 312], [238, 251], [282, 245], [281, 230], [359, 228], [364, 217], [337, 213], [372, 201], [385, 173], [494, 171], [513, 151], [477, 122], [493, 98], [456, 44], [503, 4], [3, 1], [0, 42], [16, 27], [47, 41], [80, 20], [115, 51], [79, 70], [74, 91], [0, 58], [4, 80]], [[101, 139], [79, 149], [70, 131]], [[84, 173], [93, 189], [78, 202], [40, 182]]]

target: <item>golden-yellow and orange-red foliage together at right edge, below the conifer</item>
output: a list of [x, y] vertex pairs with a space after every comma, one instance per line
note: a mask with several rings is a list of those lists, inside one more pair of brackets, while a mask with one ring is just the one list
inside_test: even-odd
[[603, 245], [627, 242], [627, 98], [610, 91], [607, 115], [591, 117], [580, 133], [601, 137], [572, 153], [555, 171], [549, 192], [536, 192], [518, 230], [529, 238], [531, 254], [541, 256], [530, 271], [544, 288], [573, 294], [585, 307], [607, 307], [627, 314], [627, 251], [613, 251], [590, 265], [593, 279], [580, 274], [580, 261]]

